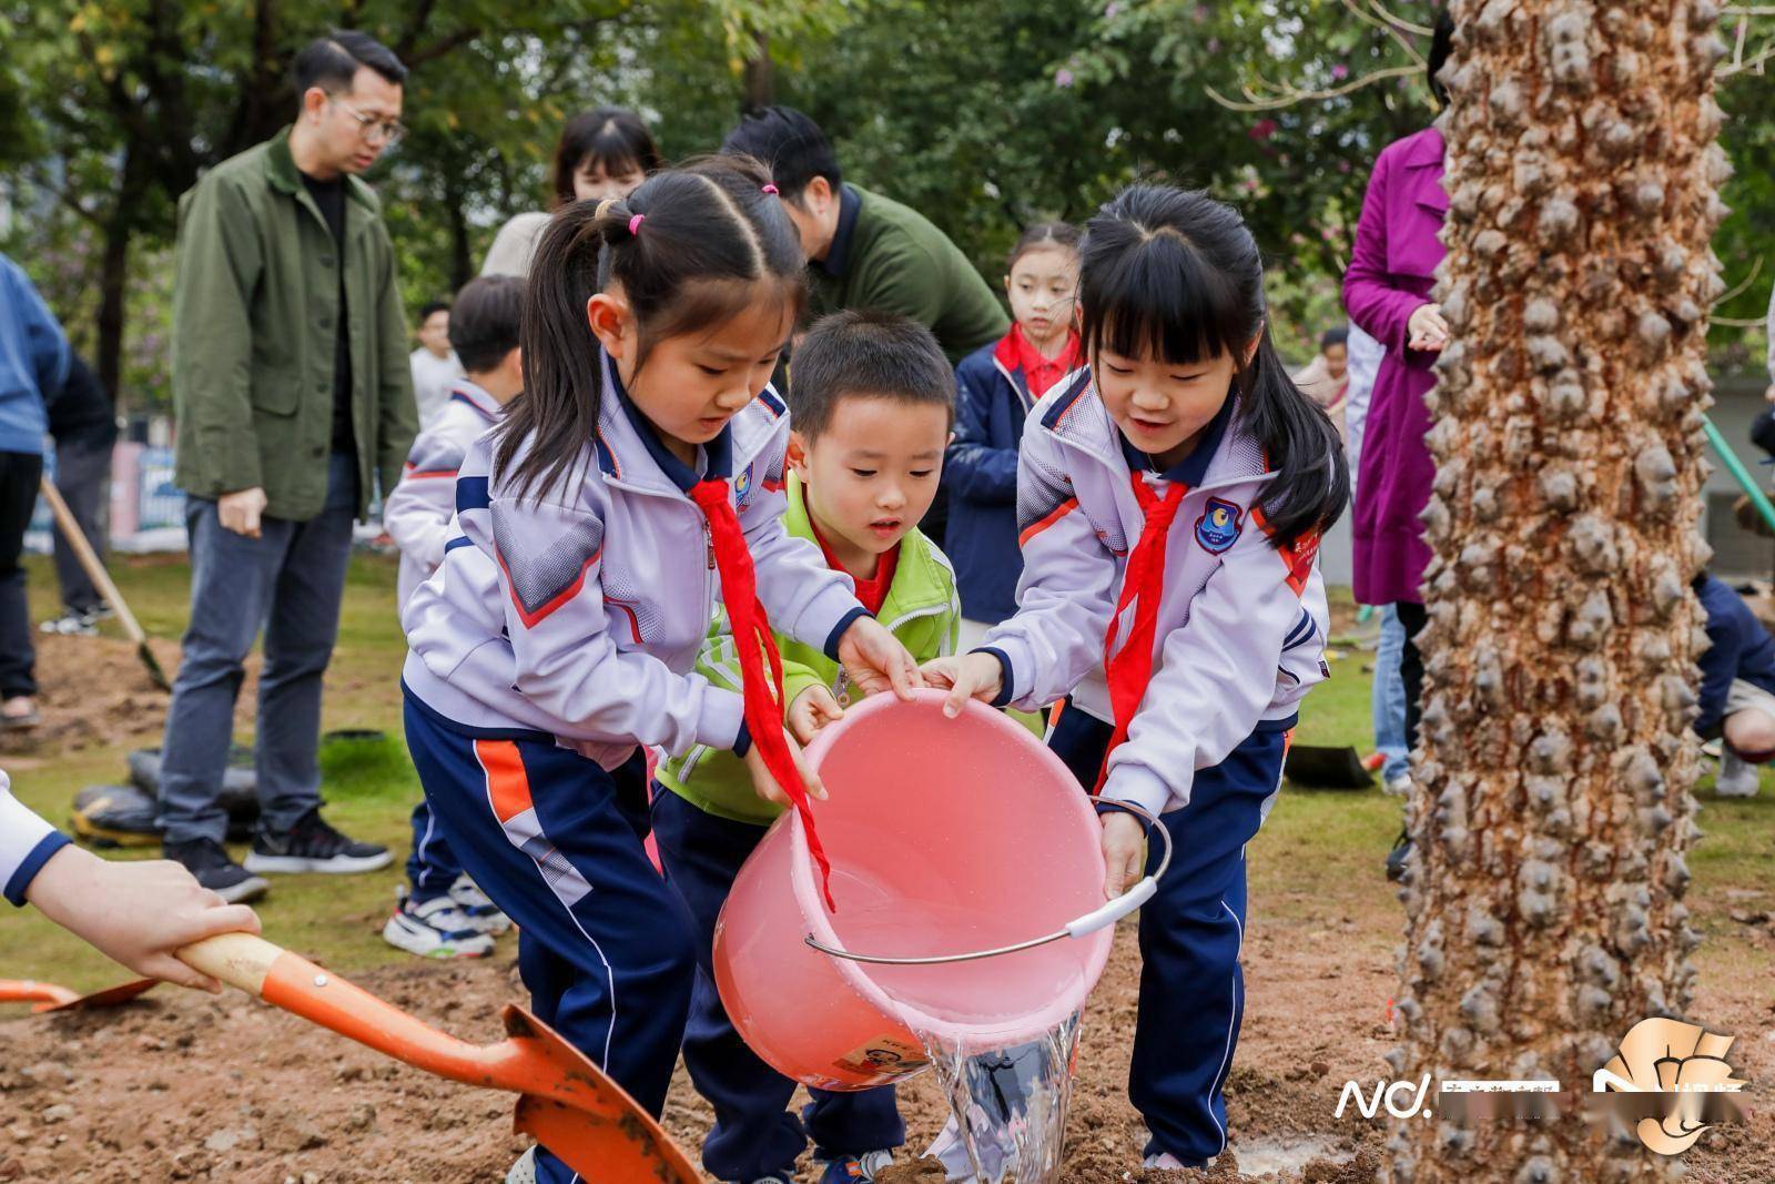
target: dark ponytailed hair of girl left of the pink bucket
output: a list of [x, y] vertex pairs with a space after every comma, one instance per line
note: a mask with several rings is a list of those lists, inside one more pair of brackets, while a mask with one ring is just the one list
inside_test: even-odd
[[515, 497], [552, 488], [588, 453], [604, 396], [604, 357], [586, 325], [595, 293], [621, 284], [641, 335], [637, 369], [666, 337], [710, 332], [760, 300], [781, 300], [790, 323], [801, 316], [808, 257], [769, 183], [761, 162], [706, 156], [655, 172], [628, 197], [556, 213], [524, 293], [524, 394], [493, 456]]

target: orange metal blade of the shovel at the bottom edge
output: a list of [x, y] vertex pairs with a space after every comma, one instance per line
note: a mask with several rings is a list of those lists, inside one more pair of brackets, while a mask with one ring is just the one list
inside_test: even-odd
[[506, 1006], [504, 1021], [522, 1049], [501, 1083], [524, 1092], [515, 1129], [598, 1184], [701, 1182], [666, 1129], [584, 1053], [522, 1006]]

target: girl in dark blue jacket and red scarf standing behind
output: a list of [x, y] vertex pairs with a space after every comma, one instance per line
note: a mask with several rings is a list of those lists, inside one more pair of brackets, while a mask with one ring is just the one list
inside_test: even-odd
[[1017, 446], [1022, 421], [1054, 385], [1083, 383], [1072, 321], [1079, 231], [1031, 225], [1005, 266], [1012, 327], [955, 367], [955, 440], [944, 458], [948, 554], [962, 595], [962, 651], [1017, 611]]

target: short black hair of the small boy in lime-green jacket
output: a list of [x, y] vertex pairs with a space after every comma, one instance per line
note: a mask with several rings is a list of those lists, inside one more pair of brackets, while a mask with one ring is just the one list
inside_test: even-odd
[[907, 316], [845, 309], [822, 316], [797, 343], [788, 383], [795, 431], [816, 440], [850, 398], [930, 403], [955, 426], [955, 371], [932, 332]]

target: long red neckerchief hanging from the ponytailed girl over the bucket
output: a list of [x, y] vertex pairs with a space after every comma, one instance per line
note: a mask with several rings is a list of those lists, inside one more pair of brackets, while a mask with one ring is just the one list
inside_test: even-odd
[[[825, 895], [825, 907], [838, 912], [838, 904], [832, 900], [832, 864], [813, 829], [808, 786], [802, 785], [795, 758], [790, 756], [788, 742], [783, 738], [783, 657], [770, 635], [765, 607], [758, 602], [758, 573], [753, 570], [753, 554], [746, 549], [740, 518], [733, 513], [733, 502], [728, 499], [726, 478], [703, 478], [690, 486], [690, 501], [701, 506], [703, 517], [708, 518], [708, 541], [715, 550], [715, 570], [721, 572], [721, 600], [728, 607], [733, 648], [740, 655], [746, 728], [751, 731], [753, 744], [758, 746], [765, 769], [795, 804], [795, 813], [801, 815], [801, 825], [808, 836], [808, 854], [820, 868], [820, 891]], [[769, 671], [765, 669], [767, 657], [770, 659]]]

